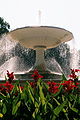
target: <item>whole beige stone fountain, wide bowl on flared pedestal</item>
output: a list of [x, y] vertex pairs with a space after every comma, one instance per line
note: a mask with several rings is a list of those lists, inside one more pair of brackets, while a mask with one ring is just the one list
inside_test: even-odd
[[[44, 60], [44, 50], [54, 48], [62, 42], [71, 40], [73, 38], [73, 35], [71, 32], [62, 28], [33, 26], [13, 30], [9, 32], [6, 37], [19, 42], [26, 48], [36, 50], [36, 62], [30, 71], [32, 72], [34, 69], [38, 69], [38, 71], [46, 78], [46, 76], [51, 76], [52, 73], [46, 67]], [[31, 72], [27, 73], [26, 71], [22, 74], [26, 75], [30, 74]], [[53, 74], [61, 75], [62, 71], [60, 73], [54, 71]], [[16, 73], [17, 77], [20, 75], [21, 73]], [[23, 77], [23, 75], [21, 76]]]

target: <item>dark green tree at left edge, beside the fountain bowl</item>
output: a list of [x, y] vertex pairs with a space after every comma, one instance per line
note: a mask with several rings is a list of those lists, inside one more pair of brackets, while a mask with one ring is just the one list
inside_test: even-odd
[[4, 21], [2, 17], [0, 17], [0, 36], [4, 33], [8, 33], [10, 29], [10, 25]]

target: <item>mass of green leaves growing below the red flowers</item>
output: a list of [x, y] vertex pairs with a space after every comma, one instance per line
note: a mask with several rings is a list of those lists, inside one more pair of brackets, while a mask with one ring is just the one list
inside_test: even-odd
[[63, 75], [57, 93], [50, 93], [41, 79], [34, 87], [27, 81], [22, 89], [18, 82], [10, 93], [0, 92], [1, 120], [79, 120], [80, 94], [77, 89], [63, 92], [64, 81]]

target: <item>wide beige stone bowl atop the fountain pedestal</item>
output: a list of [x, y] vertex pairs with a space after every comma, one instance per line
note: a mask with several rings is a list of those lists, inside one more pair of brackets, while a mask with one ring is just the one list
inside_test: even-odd
[[35, 49], [36, 46], [44, 46], [46, 49], [54, 48], [73, 38], [73, 34], [68, 30], [50, 26], [18, 28], [9, 32], [7, 36], [20, 42], [24, 47], [32, 49]]

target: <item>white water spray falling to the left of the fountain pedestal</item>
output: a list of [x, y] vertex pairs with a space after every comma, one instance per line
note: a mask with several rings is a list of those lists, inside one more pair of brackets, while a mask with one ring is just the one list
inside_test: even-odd
[[3, 36], [0, 39], [0, 77], [6, 75], [6, 71], [17, 73], [24, 72], [29, 69], [26, 60], [24, 60], [23, 52], [28, 54], [29, 49], [21, 49], [18, 42], [12, 40], [11, 37]]

